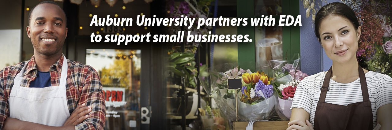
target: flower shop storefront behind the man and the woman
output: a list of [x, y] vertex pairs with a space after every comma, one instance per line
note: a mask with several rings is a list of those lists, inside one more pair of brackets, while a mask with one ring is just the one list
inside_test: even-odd
[[[287, 128], [291, 110], [288, 110], [287, 106], [279, 105], [284, 105], [283, 102], [287, 102], [290, 96], [283, 95], [283, 88], [280, 90], [279, 84], [284, 82], [285, 85], [289, 85], [287, 81], [294, 81], [295, 83], [290, 82], [294, 88], [298, 85], [294, 80], [298, 78], [296, 76], [300, 75], [299, 79], [303, 79], [307, 74], [327, 71], [332, 65], [332, 61], [314, 36], [312, 17], [317, 9], [326, 2], [334, 2], [333, 0], [312, 0], [310, 4], [309, 0], [55, 1], [64, 9], [68, 20], [68, 34], [63, 47], [65, 56], [67, 59], [92, 66], [100, 75], [106, 103], [106, 130], [245, 130], [248, 121], [255, 119], [271, 122], [258, 122], [254, 128]], [[0, 61], [0, 67], [27, 61], [33, 56], [33, 45], [25, 27], [28, 26], [29, 11], [40, 2], [42, 0], [18, 0], [7, 3], [10, 5], [9, 8], [18, 8], [11, 14], [20, 18], [8, 16], [7, 18], [14, 23], [10, 24], [10, 27], [0, 29], [1, 34], [8, 34], [0, 38], [9, 37], [17, 41], [0, 42], [0, 47], [18, 51], [9, 52], [11, 58], [2, 59], [4, 61]], [[114, 18], [135, 20], [138, 15], [147, 18], [152, 18], [153, 15], [157, 18], [176, 18], [181, 14], [194, 18], [274, 18], [276, 24], [205, 25], [200, 29], [180, 26], [90, 25], [95, 15], [98, 18], [110, 15]], [[294, 16], [292, 20], [299, 16], [302, 25], [279, 26], [277, 21], [281, 15]], [[387, 18], [388, 16], [391, 16], [390, 11], [384, 15]], [[4, 20], [1, 22], [6, 23]], [[253, 41], [132, 42], [117, 45], [116, 42], [103, 40], [91, 42], [90, 36], [91, 33], [113, 36], [147, 33], [173, 35], [179, 31], [191, 31], [191, 34], [209, 34], [211, 31], [211, 34], [249, 35], [249, 39]], [[11, 47], [10, 43], [17, 46]], [[285, 73], [284, 69], [289, 68], [288, 66], [290, 69]], [[290, 71], [292, 69], [295, 70], [293, 74]], [[283, 73], [277, 73], [278, 70]], [[391, 76], [391, 69], [387, 70]], [[257, 79], [261, 79], [261, 82], [264, 82], [261, 77], [265, 76], [267, 82], [263, 87], [274, 85], [270, 88], [273, 90], [270, 91], [269, 97], [243, 98], [250, 96], [251, 88], [256, 89], [255, 84], [258, 81], [255, 80], [252, 84], [252, 81], [244, 80], [245, 73], [249, 73], [250, 77], [252, 72], [258, 74]], [[290, 76], [292, 80], [283, 79]], [[242, 81], [230, 80], [232, 83], [229, 83], [229, 79]], [[232, 87], [234, 82], [240, 83], [241, 88]], [[249, 88], [244, 84], [248, 84]], [[254, 92], [255, 90], [253, 97]], [[260, 101], [257, 101], [259, 99]], [[267, 101], [267, 105], [258, 108], [266, 109], [254, 114], [261, 116], [252, 117], [246, 114], [256, 111], [247, 111], [246, 108], [264, 103], [263, 101]], [[264, 127], [266, 125], [270, 127]]]

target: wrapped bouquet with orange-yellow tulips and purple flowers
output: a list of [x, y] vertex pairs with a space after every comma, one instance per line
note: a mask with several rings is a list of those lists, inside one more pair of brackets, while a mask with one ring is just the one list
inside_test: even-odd
[[[223, 64], [214, 68], [223, 69], [230, 66]], [[276, 94], [271, 85], [272, 78], [263, 72], [252, 73], [249, 69], [234, 67], [225, 72], [209, 70], [209, 74], [209, 78], [200, 78], [201, 84], [227, 119], [263, 120], [274, 108]], [[229, 79], [240, 79], [241, 86], [238, 89], [228, 89]]]

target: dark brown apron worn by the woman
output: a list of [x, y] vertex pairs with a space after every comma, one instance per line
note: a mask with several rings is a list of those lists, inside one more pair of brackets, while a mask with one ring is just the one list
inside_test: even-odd
[[329, 79], [332, 67], [328, 70], [321, 87], [320, 98], [314, 116], [314, 130], [372, 130], [373, 113], [369, 101], [365, 73], [362, 67], [358, 67], [361, 81], [363, 101], [351, 103], [347, 106], [326, 103], [325, 96], [329, 90]]

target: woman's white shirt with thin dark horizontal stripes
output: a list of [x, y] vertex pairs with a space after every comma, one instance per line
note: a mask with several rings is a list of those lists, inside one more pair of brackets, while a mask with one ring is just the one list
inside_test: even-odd
[[[314, 126], [314, 114], [319, 101], [325, 73], [319, 72], [304, 78], [297, 86], [291, 108], [303, 108], [310, 114], [309, 121]], [[392, 78], [385, 74], [369, 71], [365, 74], [369, 100], [372, 105], [373, 124], [377, 124], [377, 109], [392, 104]], [[359, 78], [351, 83], [329, 81], [326, 103], [348, 105], [363, 101]]]

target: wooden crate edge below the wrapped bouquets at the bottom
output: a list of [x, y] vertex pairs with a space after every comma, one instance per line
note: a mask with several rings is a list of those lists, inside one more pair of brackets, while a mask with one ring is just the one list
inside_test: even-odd
[[[245, 130], [249, 122], [233, 122], [233, 130]], [[289, 121], [258, 121], [253, 124], [254, 130], [286, 130]]]

